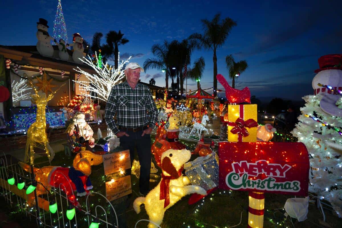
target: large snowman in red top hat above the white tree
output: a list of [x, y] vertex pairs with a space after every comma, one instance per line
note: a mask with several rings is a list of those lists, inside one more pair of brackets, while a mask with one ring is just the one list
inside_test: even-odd
[[[342, 91], [342, 55], [324, 55], [318, 59], [319, 69], [315, 70], [317, 75], [312, 80], [312, 88], [315, 94], [322, 94], [319, 107], [331, 116], [342, 117], [342, 109], [336, 106], [341, 98], [338, 90]], [[318, 85], [332, 86], [334, 92]]]

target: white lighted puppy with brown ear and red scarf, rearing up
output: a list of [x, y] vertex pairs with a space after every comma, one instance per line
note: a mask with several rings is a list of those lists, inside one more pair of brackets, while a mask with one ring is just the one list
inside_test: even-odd
[[[161, 224], [164, 213], [183, 196], [192, 193], [207, 195], [202, 187], [189, 185], [190, 181], [182, 176], [183, 165], [191, 157], [189, 150], [169, 149], [161, 155], [161, 180], [157, 187], [152, 189], [146, 197], [138, 197], [134, 200], [133, 207], [137, 214], [140, 213], [140, 205], [145, 204], [145, 210], [149, 220], [158, 226]], [[148, 228], [157, 227], [149, 223]]]

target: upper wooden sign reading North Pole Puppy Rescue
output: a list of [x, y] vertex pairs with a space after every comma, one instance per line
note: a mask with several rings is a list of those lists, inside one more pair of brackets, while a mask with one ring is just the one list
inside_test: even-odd
[[105, 175], [127, 170], [131, 167], [129, 150], [103, 155]]

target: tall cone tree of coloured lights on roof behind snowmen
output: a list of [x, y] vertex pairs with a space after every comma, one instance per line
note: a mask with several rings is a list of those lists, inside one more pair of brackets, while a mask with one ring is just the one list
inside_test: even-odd
[[[66, 25], [64, 21], [64, 15], [62, 10], [61, 0], [58, 0], [57, 12], [55, 16], [55, 21], [53, 22], [53, 38], [57, 41], [63, 39], [65, 44], [68, 43], [68, 33], [66, 31]], [[55, 42], [51, 40], [51, 45], [55, 45]]]

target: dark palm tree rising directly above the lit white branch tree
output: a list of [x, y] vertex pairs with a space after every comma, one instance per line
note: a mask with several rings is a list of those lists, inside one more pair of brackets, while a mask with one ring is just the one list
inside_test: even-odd
[[107, 44], [103, 46], [103, 51], [106, 53], [114, 53], [114, 68], [118, 69], [119, 65], [119, 45], [124, 45], [129, 42], [128, 39], [123, 38], [123, 33], [121, 30], [117, 31], [109, 31], [106, 35]]

